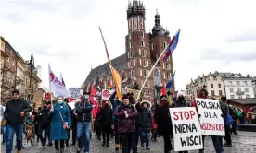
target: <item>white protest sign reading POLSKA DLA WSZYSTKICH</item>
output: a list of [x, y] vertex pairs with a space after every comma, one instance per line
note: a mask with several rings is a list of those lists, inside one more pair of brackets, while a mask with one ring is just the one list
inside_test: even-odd
[[219, 100], [196, 99], [202, 135], [224, 136], [224, 118]]

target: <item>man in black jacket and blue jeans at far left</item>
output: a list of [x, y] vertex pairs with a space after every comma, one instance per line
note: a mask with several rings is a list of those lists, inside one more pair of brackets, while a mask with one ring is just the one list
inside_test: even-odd
[[12, 92], [12, 100], [6, 103], [4, 117], [6, 119], [6, 153], [11, 153], [13, 148], [13, 136], [16, 134], [18, 153], [21, 153], [22, 148], [22, 132], [25, 113], [31, 112], [30, 104], [20, 99], [19, 90], [15, 89]]

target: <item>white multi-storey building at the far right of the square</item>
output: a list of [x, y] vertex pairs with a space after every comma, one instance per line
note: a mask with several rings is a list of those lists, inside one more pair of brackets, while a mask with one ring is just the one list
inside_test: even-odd
[[252, 78], [241, 74], [224, 77], [225, 95], [227, 99], [255, 98]]

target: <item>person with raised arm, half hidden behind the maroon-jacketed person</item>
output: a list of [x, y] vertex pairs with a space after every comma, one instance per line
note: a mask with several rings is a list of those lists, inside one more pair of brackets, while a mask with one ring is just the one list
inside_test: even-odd
[[120, 106], [121, 101], [118, 100], [118, 98], [116, 97], [116, 94], [117, 94], [117, 91], [114, 91], [114, 93], [110, 96], [109, 100], [111, 102], [112, 109], [113, 109], [112, 122], [114, 123], [114, 130], [115, 130], [114, 132], [115, 133], [115, 150], [119, 151], [119, 149], [122, 147], [122, 141], [118, 133], [118, 119], [115, 117], [114, 112]]

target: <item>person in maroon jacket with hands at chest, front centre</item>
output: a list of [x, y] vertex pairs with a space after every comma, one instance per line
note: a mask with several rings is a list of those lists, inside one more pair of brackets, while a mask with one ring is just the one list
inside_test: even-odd
[[122, 153], [130, 153], [136, 151], [135, 144], [135, 123], [134, 119], [138, 116], [138, 112], [134, 106], [129, 102], [128, 96], [122, 96], [122, 103], [116, 109], [115, 117], [119, 119], [118, 132], [122, 139]]

